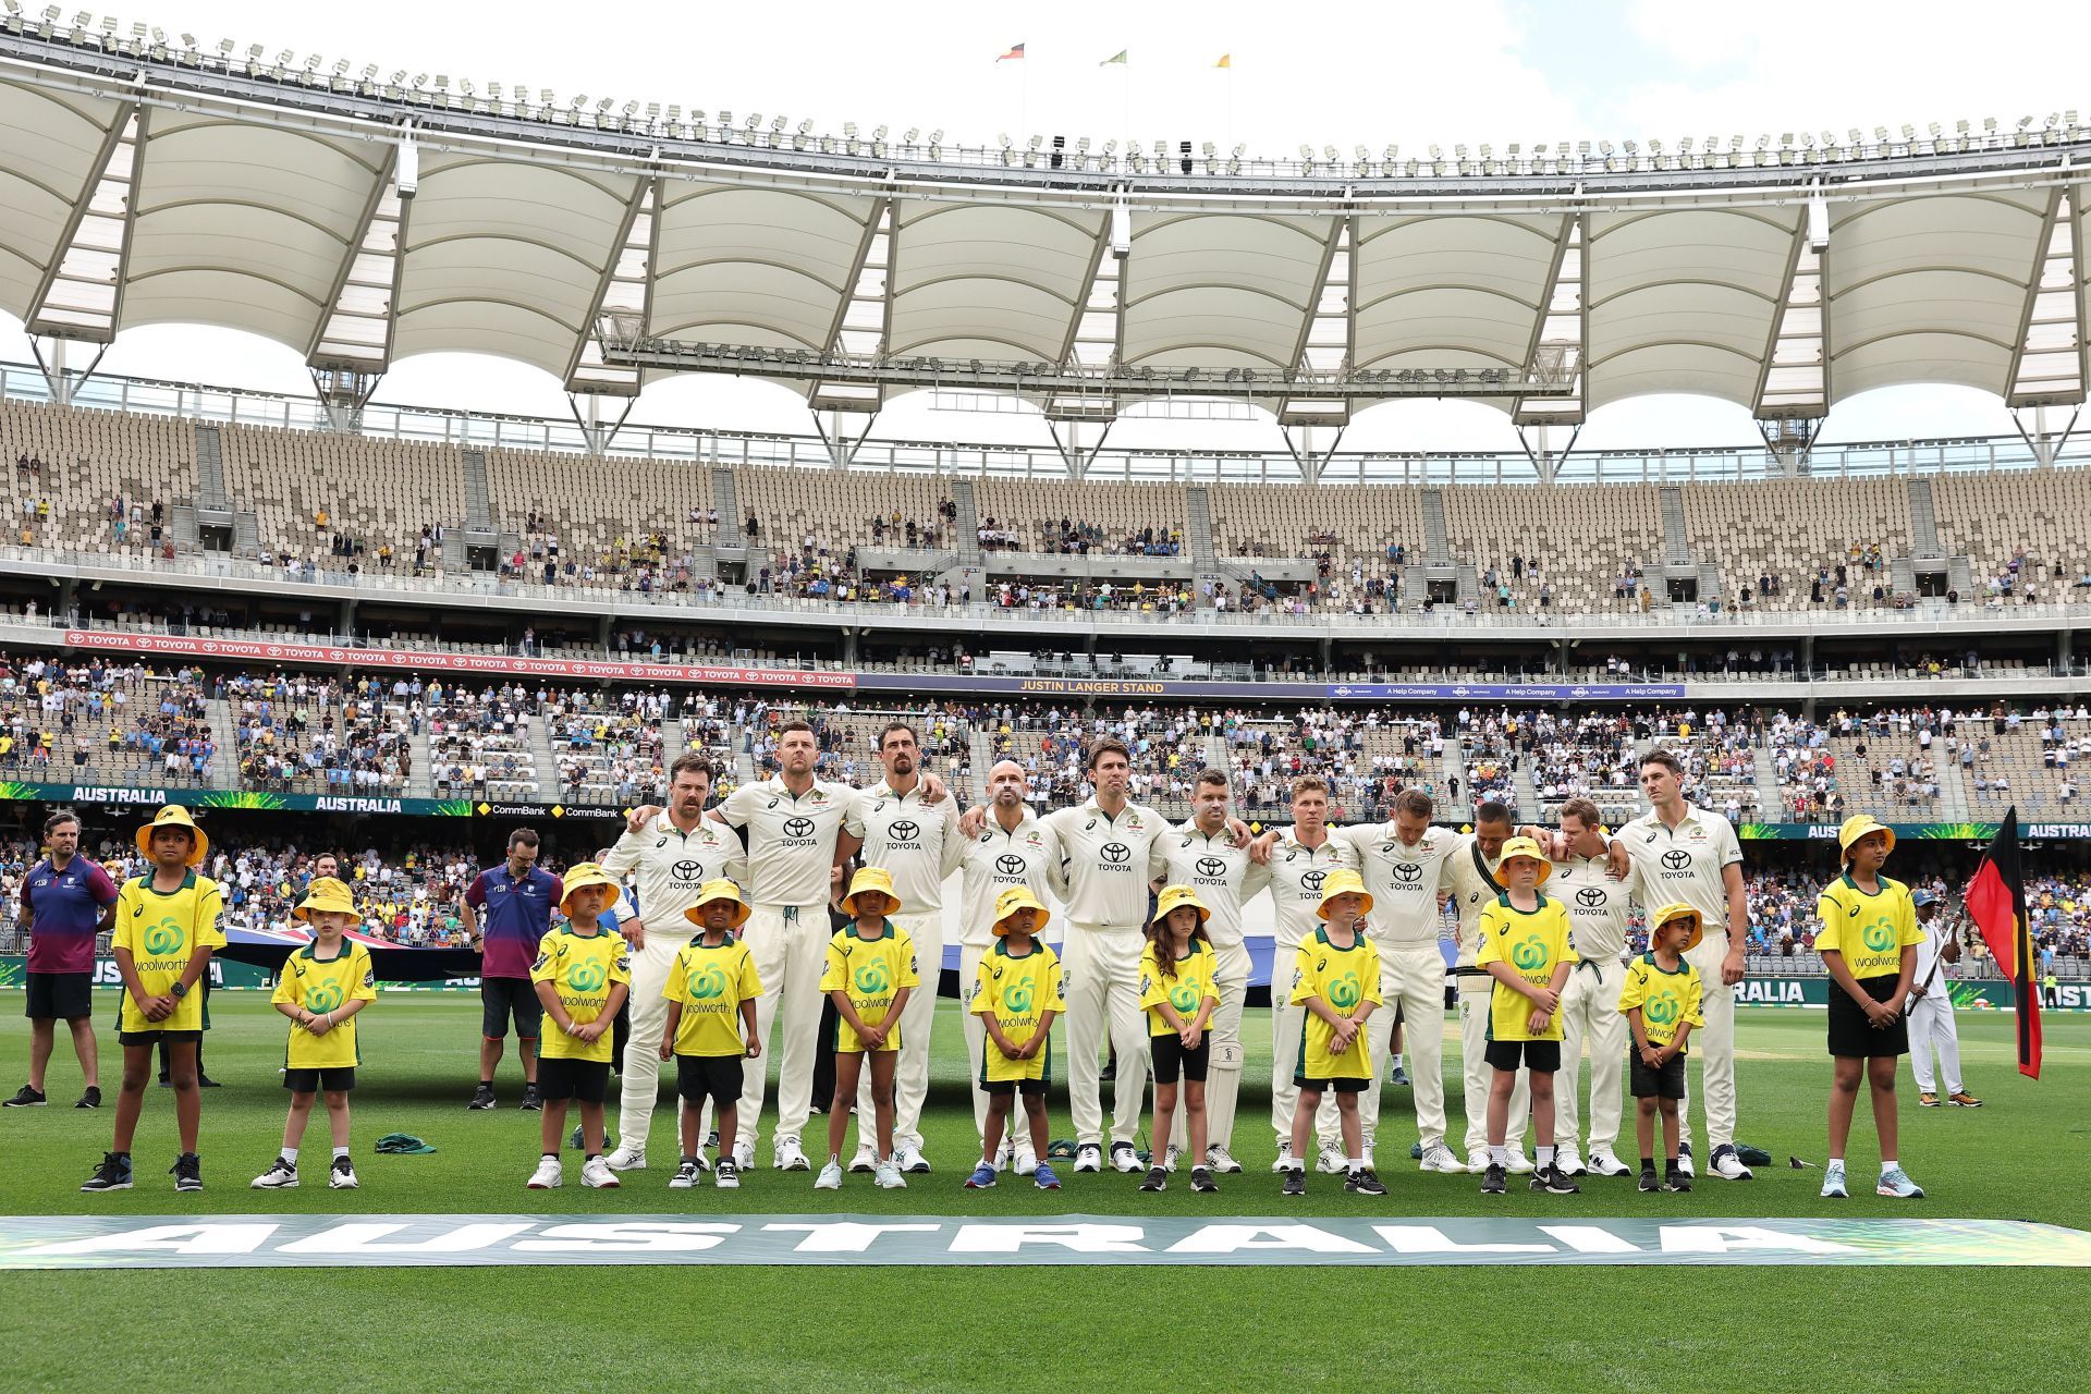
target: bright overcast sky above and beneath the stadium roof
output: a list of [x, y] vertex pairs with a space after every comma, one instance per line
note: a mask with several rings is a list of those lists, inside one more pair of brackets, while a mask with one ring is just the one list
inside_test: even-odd
[[[1963, 4], [1756, 0], [1664, 4], [1163, 4], [905, 6], [797, 0], [723, 4], [431, 4], [358, 0], [284, 6], [155, 0], [117, 10], [169, 33], [349, 59], [353, 69], [447, 73], [562, 96], [659, 100], [811, 119], [838, 132], [943, 127], [951, 142], [1002, 132], [1244, 142], [1290, 155], [1303, 142], [1372, 150], [1399, 142], [1648, 140], [1675, 144], [1788, 130], [2091, 109], [2091, 6], [2045, 6], [1984, 23]], [[1012, 44], [1022, 63], [995, 63]], [[1100, 67], [1127, 50], [1129, 63]], [[1215, 63], [1232, 54], [1232, 69]], [[1121, 130], [1123, 127], [1123, 130]], [[0, 355], [27, 362], [19, 322], [0, 316]], [[309, 393], [295, 353], [222, 330], [153, 326], [123, 334], [111, 372]], [[558, 382], [521, 364], [424, 355], [397, 364], [385, 401], [562, 416]], [[803, 399], [736, 380], [648, 389], [634, 420], [807, 431]], [[2009, 433], [2003, 405], [1953, 387], [1888, 389], [1834, 412], [1825, 439]], [[1043, 441], [1035, 418], [889, 408], [880, 437]], [[1276, 447], [1267, 422], [1121, 426], [1117, 443]], [[1754, 443], [1748, 412], [1702, 397], [1648, 397], [1595, 412], [1579, 447]], [[1347, 447], [1516, 449], [1508, 420], [1472, 403], [1403, 403], [1368, 414]]]

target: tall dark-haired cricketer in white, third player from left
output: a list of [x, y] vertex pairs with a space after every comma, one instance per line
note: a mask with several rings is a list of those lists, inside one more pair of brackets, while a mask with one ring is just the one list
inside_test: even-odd
[[[887, 777], [859, 792], [843, 819], [843, 851], [857, 844], [857, 859], [884, 867], [901, 907], [893, 924], [907, 930], [922, 966], [922, 986], [901, 1009], [901, 1058], [893, 1070], [893, 1160], [903, 1172], [926, 1172], [922, 1156], [922, 1101], [928, 1097], [928, 1037], [937, 1020], [937, 980], [943, 974], [943, 878], [960, 867], [966, 838], [949, 798], [926, 800], [920, 777], [922, 748], [905, 721], [878, 734], [878, 763]], [[960, 982], [966, 982], [960, 978]], [[872, 1170], [872, 1072], [857, 1085], [857, 1156], [851, 1170]]]

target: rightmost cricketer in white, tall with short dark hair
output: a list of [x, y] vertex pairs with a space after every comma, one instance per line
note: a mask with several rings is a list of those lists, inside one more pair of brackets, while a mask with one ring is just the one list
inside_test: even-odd
[[[1641, 757], [1641, 792], [1652, 805], [1612, 838], [1616, 855], [1631, 859], [1641, 878], [1641, 901], [1683, 901], [1700, 913], [1706, 938], [1685, 955], [1704, 986], [1700, 1014], [1706, 1026], [1692, 1032], [1690, 1060], [1700, 1066], [1706, 1106], [1708, 1170], [1723, 1181], [1750, 1181], [1736, 1156], [1736, 993], [1744, 949], [1750, 943], [1750, 903], [1742, 886], [1742, 842], [1725, 817], [1694, 809], [1683, 794], [1683, 761], [1669, 750]], [[1625, 872], [1621, 861], [1614, 869]], [[1723, 932], [1725, 926], [1725, 932]], [[1685, 1099], [1690, 1106], [1690, 1099]], [[1692, 1137], [1685, 1108], [1677, 1110], [1683, 1137]]]

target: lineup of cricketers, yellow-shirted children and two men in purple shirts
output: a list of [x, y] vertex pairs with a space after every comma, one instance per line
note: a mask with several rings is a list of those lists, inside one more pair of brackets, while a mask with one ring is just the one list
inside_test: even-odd
[[[1637, 1175], [1641, 1191], [1690, 1189], [1700, 1170], [1752, 1177], [1736, 1145], [1729, 991], [1744, 976], [1742, 849], [1727, 819], [1687, 803], [1683, 767], [1662, 750], [1639, 769], [1648, 811], [1610, 836], [1581, 798], [1562, 807], [1558, 828], [1520, 828], [1503, 805], [1483, 803], [1472, 832], [1451, 832], [1432, 826], [1420, 790], [1403, 792], [1384, 823], [1330, 826], [1315, 775], [1294, 780], [1288, 828], [1250, 836], [1230, 813], [1223, 771], [1202, 771], [1192, 817], [1169, 823], [1127, 798], [1131, 759], [1108, 738], [1085, 754], [1094, 794], [1046, 815], [1027, 800], [1014, 761], [989, 771], [985, 805], [960, 809], [922, 773], [905, 723], [880, 731], [882, 780], [872, 788], [815, 780], [815, 757], [813, 729], [786, 723], [778, 773], [717, 807], [707, 807], [709, 763], [684, 757], [669, 769], [665, 807], [634, 809], [594, 861], [554, 876], [537, 865], [535, 834], [516, 830], [506, 861], [473, 884], [466, 928], [483, 955], [483, 1020], [470, 1108], [496, 1106], [512, 1035], [523, 1103], [542, 1110], [529, 1187], [562, 1183], [569, 1110], [579, 1114], [583, 1185], [617, 1187], [644, 1170], [669, 1066], [680, 1103], [671, 1189], [698, 1187], [707, 1172], [721, 1189], [742, 1185], [765, 1126], [774, 1168], [811, 1170], [815, 1189], [838, 1189], [851, 1120], [847, 1170], [880, 1187], [930, 1172], [922, 1110], [953, 876], [981, 1139], [966, 1187], [1014, 1175], [1058, 1189], [1056, 1160], [1073, 1172], [1138, 1175], [1144, 1191], [1165, 1189], [1179, 1162], [1194, 1191], [1217, 1191], [1217, 1177], [1240, 1172], [1244, 907], [1265, 892], [1276, 913], [1271, 1170], [1284, 1195], [1305, 1193], [1309, 1170], [1340, 1177], [1353, 1193], [1386, 1193], [1374, 1158], [1388, 1066], [1411, 1083], [1420, 1170], [1476, 1175], [1485, 1193], [1503, 1193], [1510, 1175], [1556, 1195], [1575, 1193], [1583, 1175]], [[23, 903], [33, 926], [31, 1018], [63, 1018], [77, 1039], [88, 1001], [86, 982], [71, 978], [82, 936], [92, 966], [98, 928], [113, 930], [123, 978], [115, 1129], [82, 1189], [132, 1187], [153, 1051], [165, 1045], [176, 1189], [197, 1191], [207, 1028], [199, 984], [226, 943], [217, 884], [197, 869], [209, 838], [186, 809], [163, 809], [136, 834], [153, 869], [119, 888], [73, 855], [77, 834], [67, 813], [46, 823], [50, 859], [25, 878]], [[1897, 1158], [1894, 1074], [1909, 1051], [1905, 1012], [1924, 997], [1913, 989], [1928, 936], [1907, 888], [1882, 876], [1892, 844], [1888, 828], [1848, 819], [1821, 895], [1819, 947], [1836, 982], [1823, 1195], [1846, 1193], [1861, 1078], [1882, 1143], [1878, 1193], [1922, 1195]], [[1457, 915], [1462, 1133], [1451, 1131], [1439, 1030], [1447, 905]], [[847, 915], [843, 928], [832, 928], [830, 907]], [[1648, 951], [1629, 957], [1635, 909]], [[358, 913], [347, 884], [318, 876], [295, 917], [312, 943], [291, 953], [272, 995], [289, 1018], [291, 1110], [282, 1152], [251, 1185], [299, 1183], [301, 1137], [324, 1106], [328, 1185], [355, 1187], [349, 1097], [362, 1064], [358, 1016], [376, 999], [376, 980], [368, 951], [349, 938]], [[1041, 938], [1056, 920], [1058, 949]], [[1071, 1158], [1050, 1156], [1048, 1141], [1062, 1039]], [[809, 1149], [824, 1055], [834, 1095], [824, 1147]], [[1687, 1060], [1700, 1062], [1696, 1089]], [[621, 1085], [606, 1145], [613, 1062]], [[1623, 1154], [1629, 1099], [1637, 1147]], [[1708, 1147], [1702, 1166], [1692, 1099]]]

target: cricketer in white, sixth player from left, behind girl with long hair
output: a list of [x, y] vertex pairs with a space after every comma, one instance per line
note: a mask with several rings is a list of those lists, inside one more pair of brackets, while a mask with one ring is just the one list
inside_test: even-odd
[[[1167, 836], [1154, 838], [1148, 855], [1148, 878], [1156, 892], [1163, 886], [1192, 886], [1204, 901], [1209, 917], [1204, 936], [1217, 963], [1213, 980], [1219, 1007], [1209, 1022], [1211, 1055], [1204, 1087], [1204, 1158], [1217, 1172], [1238, 1172], [1234, 1160], [1234, 1110], [1242, 1093], [1242, 1007], [1248, 1005], [1248, 945], [1242, 938], [1242, 905], [1269, 884], [1269, 867], [1257, 865], [1246, 846], [1236, 846], [1227, 828], [1227, 773], [1200, 769], [1192, 782], [1192, 817]], [[1179, 1091], [1171, 1137], [1190, 1137]], [[1200, 1158], [1192, 1158], [1196, 1166]]]

